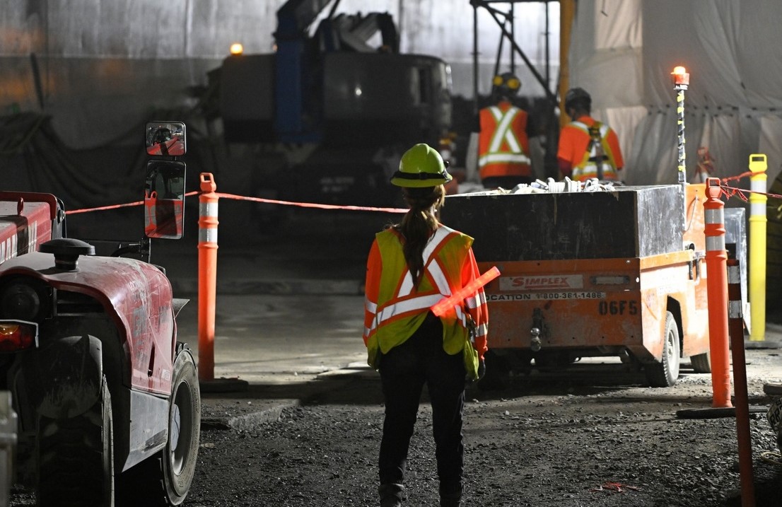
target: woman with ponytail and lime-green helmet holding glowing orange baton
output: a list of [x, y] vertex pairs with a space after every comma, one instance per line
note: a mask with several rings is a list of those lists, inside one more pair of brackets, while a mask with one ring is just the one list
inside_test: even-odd
[[478, 278], [472, 238], [441, 224], [443, 185], [450, 182], [436, 149], [417, 144], [391, 182], [410, 210], [378, 232], [367, 261], [364, 343], [378, 369], [386, 404], [380, 444], [380, 505], [404, 496], [407, 450], [424, 384], [432, 404], [440, 505], [461, 505], [465, 375], [485, 372], [488, 309], [483, 289], [436, 317], [430, 308]]

